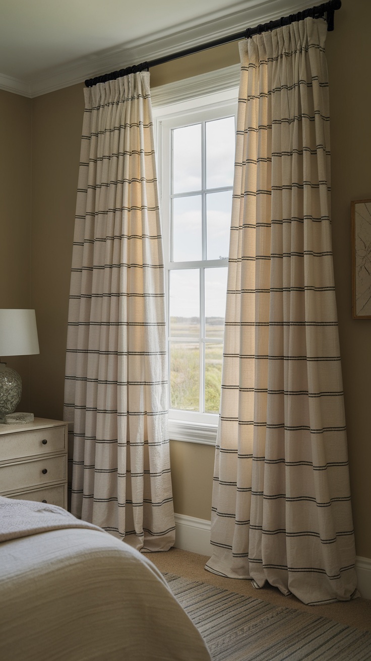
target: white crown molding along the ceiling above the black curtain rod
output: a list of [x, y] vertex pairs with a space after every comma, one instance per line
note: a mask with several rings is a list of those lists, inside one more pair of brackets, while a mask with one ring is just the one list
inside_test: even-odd
[[155, 40], [148, 40], [148, 36], [134, 40], [120, 48], [108, 49], [101, 54], [79, 58], [69, 65], [54, 67], [53, 71], [45, 71], [43, 75], [28, 81], [10, 79], [0, 74], [0, 89], [7, 89], [25, 97], [38, 97], [63, 87], [77, 85], [85, 79], [109, 71], [161, 58], [234, 32], [241, 32], [249, 26], [301, 11], [308, 5], [311, 6], [308, 0], [245, 0], [233, 5], [233, 12], [227, 15], [222, 16], [219, 11], [213, 13], [210, 20], [205, 20], [204, 17], [204, 22], [194, 19], [186, 24], [179, 24], [173, 28], [171, 34], [169, 30], [157, 33]]

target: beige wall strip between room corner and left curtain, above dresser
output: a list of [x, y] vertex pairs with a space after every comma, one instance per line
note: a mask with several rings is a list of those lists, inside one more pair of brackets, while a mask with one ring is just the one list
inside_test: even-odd
[[40, 356], [35, 415], [62, 420], [69, 276], [83, 122], [83, 85], [32, 100], [31, 297]]

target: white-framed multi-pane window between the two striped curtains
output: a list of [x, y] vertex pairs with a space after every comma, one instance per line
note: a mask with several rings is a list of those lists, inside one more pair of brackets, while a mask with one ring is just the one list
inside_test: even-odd
[[215, 442], [237, 89], [155, 109], [171, 438]]

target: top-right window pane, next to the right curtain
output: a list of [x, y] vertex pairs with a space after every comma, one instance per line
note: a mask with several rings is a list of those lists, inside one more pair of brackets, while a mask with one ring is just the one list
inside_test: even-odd
[[233, 186], [235, 118], [206, 122], [206, 188]]

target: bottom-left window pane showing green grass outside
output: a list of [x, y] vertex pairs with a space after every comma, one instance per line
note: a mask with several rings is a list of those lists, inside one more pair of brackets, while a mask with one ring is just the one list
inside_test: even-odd
[[170, 408], [200, 410], [200, 346], [170, 342]]

